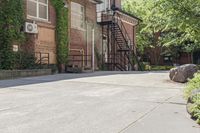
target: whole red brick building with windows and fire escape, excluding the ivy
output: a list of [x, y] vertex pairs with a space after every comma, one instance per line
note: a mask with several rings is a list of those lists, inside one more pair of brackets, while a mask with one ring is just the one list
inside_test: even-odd
[[[139, 19], [121, 10], [121, 0], [63, 0], [69, 8], [69, 66], [132, 70]], [[26, 22], [37, 25], [26, 50], [56, 61], [56, 12], [50, 0], [25, 0]]]

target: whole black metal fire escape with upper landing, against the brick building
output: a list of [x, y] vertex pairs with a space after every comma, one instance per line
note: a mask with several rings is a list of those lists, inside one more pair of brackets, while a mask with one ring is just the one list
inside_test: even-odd
[[[97, 14], [97, 22], [102, 26], [107, 52], [102, 62], [107, 70], [134, 70], [135, 56], [133, 43], [125, 28], [121, 15], [114, 10]], [[105, 46], [104, 46], [105, 47]], [[136, 58], [137, 59], [137, 58]]]

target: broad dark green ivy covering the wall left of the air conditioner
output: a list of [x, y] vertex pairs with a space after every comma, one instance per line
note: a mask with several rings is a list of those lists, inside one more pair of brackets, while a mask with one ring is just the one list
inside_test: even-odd
[[[17, 9], [17, 10], [16, 10]], [[0, 69], [14, 69], [13, 43], [24, 41], [23, 0], [4, 0], [0, 3]]]

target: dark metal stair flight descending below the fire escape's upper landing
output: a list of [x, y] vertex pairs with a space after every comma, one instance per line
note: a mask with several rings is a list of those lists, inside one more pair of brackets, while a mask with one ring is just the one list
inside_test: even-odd
[[110, 32], [111, 38], [113, 38], [111, 42], [113, 55], [110, 55], [112, 58], [107, 64], [111, 65], [110, 68], [114, 70], [132, 70], [134, 68], [132, 54], [134, 54], [134, 52], [131, 46], [131, 39], [117, 13], [112, 17]]

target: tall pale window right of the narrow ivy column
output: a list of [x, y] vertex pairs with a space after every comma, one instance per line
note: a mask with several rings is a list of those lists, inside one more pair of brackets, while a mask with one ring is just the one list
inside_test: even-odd
[[71, 26], [72, 28], [84, 29], [84, 7], [71, 2]]

